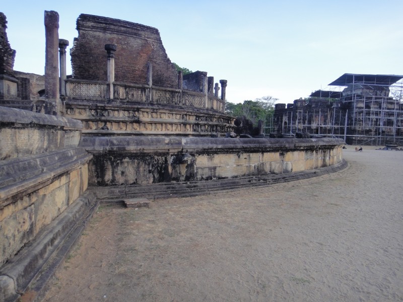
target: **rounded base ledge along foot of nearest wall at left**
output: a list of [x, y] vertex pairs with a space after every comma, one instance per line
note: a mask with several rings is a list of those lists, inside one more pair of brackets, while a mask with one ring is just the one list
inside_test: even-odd
[[[36, 293], [38, 300], [38, 295], [44, 293], [47, 282], [71, 251], [96, 207], [95, 195], [86, 192], [1, 267], [0, 285], [7, 285], [0, 290], [1, 300], [15, 301], [34, 279], [35, 286], [31, 290]], [[46, 269], [41, 271], [45, 266]], [[14, 286], [10, 279], [14, 281]]]

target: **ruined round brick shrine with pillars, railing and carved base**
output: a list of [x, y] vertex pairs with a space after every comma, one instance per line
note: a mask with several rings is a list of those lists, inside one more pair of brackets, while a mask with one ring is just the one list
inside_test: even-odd
[[83, 121], [84, 135], [210, 136], [234, 129], [225, 94], [213, 95], [214, 78], [178, 74], [157, 29], [85, 14], [77, 29], [65, 108]]

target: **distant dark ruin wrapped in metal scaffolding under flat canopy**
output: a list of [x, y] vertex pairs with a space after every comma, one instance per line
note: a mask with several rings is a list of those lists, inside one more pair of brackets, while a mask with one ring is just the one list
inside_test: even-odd
[[312, 93], [306, 104], [289, 104], [278, 130], [343, 138], [349, 144], [403, 145], [402, 79], [345, 73], [329, 84], [331, 90]]

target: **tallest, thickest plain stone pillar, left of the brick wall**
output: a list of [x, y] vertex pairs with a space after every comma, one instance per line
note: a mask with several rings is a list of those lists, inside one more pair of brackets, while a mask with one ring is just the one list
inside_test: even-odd
[[59, 90], [59, 14], [45, 11], [45, 113], [62, 115]]

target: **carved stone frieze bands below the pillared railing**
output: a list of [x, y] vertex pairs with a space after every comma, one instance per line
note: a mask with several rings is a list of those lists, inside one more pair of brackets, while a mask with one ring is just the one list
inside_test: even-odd
[[134, 107], [119, 103], [66, 103], [66, 116], [83, 121], [84, 135], [91, 133], [210, 136], [234, 130], [233, 118], [183, 109]]

